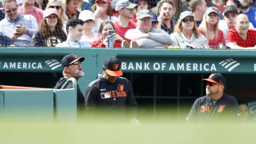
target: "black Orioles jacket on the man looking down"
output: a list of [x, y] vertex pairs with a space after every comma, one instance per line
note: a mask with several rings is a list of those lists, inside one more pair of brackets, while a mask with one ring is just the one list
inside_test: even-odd
[[130, 81], [124, 77], [117, 77], [114, 83], [108, 82], [103, 74], [91, 82], [85, 91], [85, 105], [87, 109], [97, 109], [100, 113], [109, 111], [125, 111], [125, 107], [137, 107]]

